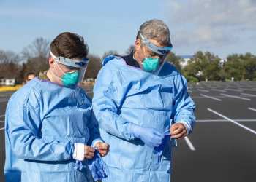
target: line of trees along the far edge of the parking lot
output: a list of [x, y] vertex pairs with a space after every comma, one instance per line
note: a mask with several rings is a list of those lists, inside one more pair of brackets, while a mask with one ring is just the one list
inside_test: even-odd
[[[133, 46], [129, 46], [125, 54], [129, 54]], [[14, 78], [16, 82], [23, 82], [26, 73], [48, 69], [49, 41], [40, 37], [29, 46], [23, 48], [19, 54], [0, 50], [0, 78]], [[101, 60], [108, 55], [118, 55], [118, 52], [110, 50], [105, 52], [102, 58], [98, 55], [89, 55], [89, 66], [86, 70], [86, 78], [97, 78], [101, 68]], [[226, 60], [220, 59], [211, 52], [195, 52], [192, 58], [182, 67], [184, 59], [170, 52], [166, 58], [181, 71], [189, 82], [200, 81], [256, 81], [256, 55], [251, 53], [228, 55]]]

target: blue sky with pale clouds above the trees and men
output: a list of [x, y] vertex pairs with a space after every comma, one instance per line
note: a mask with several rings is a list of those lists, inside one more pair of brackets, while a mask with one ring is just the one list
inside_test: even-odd
[[51, 41], [72, 31], [86, 39], [92, 54], [123, 54], [151, 18], [169, 25], [178, 55], [256, 53], [255, 0], [0, 0], [0, 50], [19, 53], [37, 37]]

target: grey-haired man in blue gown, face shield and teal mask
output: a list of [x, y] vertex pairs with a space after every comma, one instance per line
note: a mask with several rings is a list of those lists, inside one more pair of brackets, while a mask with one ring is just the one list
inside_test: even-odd
[[195, 103], [184, 76], [165, 60], [172, 49], [162, 20], [140, 26], [134, 50], [102, 60], [92, 100], [102, 138], [104, 182], [169, 182], [176, 139], [192, 132]]

